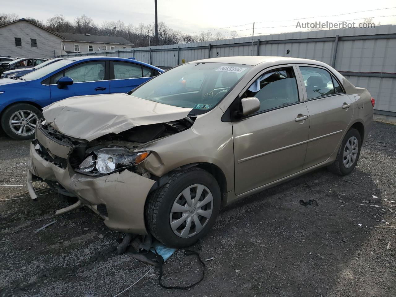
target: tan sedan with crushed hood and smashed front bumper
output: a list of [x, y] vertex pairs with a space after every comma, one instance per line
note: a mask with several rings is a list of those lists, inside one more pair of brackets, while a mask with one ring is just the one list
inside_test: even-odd
[[28, 188], [44, 181], [117, 231], [194, 244], [221, 206], [328, 166], [358, 162], [374, 99], [329, 65], [286, 57], [194, 61], [128, 94], [44, 108]]

